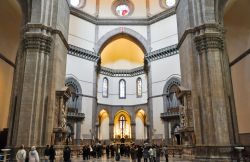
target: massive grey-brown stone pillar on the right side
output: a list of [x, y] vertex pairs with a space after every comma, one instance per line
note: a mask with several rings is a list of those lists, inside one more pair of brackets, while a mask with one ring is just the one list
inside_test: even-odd
[[221, 24], [225, 2], [181, 0], [177, 6], [182, 85], [191, 90], [198, 161], [230, 161], [231, 148], [238, 142]]

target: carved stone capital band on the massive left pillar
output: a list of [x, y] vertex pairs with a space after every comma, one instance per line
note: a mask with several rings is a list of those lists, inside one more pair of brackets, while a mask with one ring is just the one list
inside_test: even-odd
[[51, 50], [52, 37], [43, 33], [26, 32], [24, 35], [24, 46], [26, 49], [34, 49], [49, 54]]

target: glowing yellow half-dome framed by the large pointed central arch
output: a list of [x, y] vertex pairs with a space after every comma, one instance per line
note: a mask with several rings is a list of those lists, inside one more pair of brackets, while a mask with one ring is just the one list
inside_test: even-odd
[[102, 47], [101, 66], [110, 69], [133, 69], [144, 65], [144, 50], [132, 36], [118, 34]]

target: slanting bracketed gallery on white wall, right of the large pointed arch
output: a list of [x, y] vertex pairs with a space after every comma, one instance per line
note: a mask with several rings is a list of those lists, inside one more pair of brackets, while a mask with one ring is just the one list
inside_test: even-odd
[[159, 60], [165, 57], [170, 57], [176, 54], [179, 54], [179, 51], [177, 50], [177, 45], [172, 45], [172, 46], [168, 46], [153, 52], [150, 52], [147, 56], [146, 59], [149, 61], [155, 61], [155, 60]]

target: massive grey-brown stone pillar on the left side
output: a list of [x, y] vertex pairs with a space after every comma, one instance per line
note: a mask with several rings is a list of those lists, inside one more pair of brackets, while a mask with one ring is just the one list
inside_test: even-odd
[[68, 2], [32, 0], [26, 9], [9, 117], [8, 145], [12, 146], [51, 143], [56, 90], [65, 81]]

